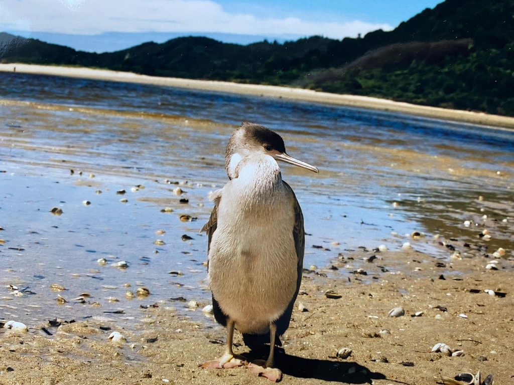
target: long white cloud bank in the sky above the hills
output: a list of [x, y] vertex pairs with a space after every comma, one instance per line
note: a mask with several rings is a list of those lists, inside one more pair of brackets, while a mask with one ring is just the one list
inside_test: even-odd
[[222, 32], [250, 35], [356, 36], [388, 24], [262, 18], [229, 13], [212, 0], [0, 0], [0, 30], [71, 34]]

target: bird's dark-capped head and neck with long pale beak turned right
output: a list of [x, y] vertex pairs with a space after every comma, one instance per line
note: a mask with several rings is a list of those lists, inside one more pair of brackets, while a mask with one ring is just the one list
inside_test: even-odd
[[227, 144], [225, 168], [229, 179], [235, 178], [237, 164], [255, 153], [269, 155], [277, 161], [319, 172], [317, 167], [287, 155], [284, 141], [278, 133], [259, 124], [244, 122], [234, 131]]

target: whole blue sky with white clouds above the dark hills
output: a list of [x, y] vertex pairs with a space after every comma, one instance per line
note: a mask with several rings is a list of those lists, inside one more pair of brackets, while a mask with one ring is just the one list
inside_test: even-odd
[[[380, 28], [391, 30], [440, 2], [0, 0], [0, 31], [50, 43], [64, 41], [72, 48], [97, 52], [121, 49], [120, 44], [128, 48], [149, 40], [166, 41], [179, 35], [203, 34], [240, 44], [311, 35], [341, 39]], [[89, 42], [87, 48], [80, 47], [81, 41]]]

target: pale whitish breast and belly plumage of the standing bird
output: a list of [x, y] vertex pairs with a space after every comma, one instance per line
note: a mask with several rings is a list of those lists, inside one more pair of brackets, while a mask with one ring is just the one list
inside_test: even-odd
[[282, 315], [296, 290], [295, 200], [273, 158], [248, 158], [221, 190], [209, 283], [236, 328], [258, 333]]

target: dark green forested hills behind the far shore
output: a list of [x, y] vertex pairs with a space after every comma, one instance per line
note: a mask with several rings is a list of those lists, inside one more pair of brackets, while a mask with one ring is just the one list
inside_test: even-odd
[[512, 0], [446, 0], [362, 38], [238, 45], [189, 36], [101, 54], [0, 34], [0, 60], [293, 85], [514, 116], [512, 15]]

